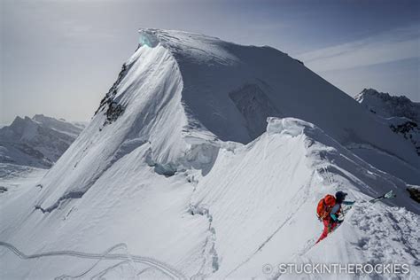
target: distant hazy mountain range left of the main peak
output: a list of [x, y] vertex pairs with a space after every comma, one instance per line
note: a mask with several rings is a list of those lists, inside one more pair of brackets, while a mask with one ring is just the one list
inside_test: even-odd
[[43, 114], [16, 117], [0, 128], [0, 163], [49, 168], [82, 132], [82, 123], [56, 120]]

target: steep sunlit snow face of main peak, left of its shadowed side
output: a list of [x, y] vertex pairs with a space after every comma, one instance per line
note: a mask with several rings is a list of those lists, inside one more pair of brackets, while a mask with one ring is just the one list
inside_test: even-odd
[[[113, 97], [113, 102], [125, 107], [117, 120], [118, 128], [114, 128], [115, 122], [107, 124], [105, 114], [97, 114], [64, 159], [53, 167], [51, 177], [44, 179], [44, 184], [55, 187], [43, 193], [43, 202], [39, 203], [43, 209], [52, 210], [72, 193], [89, 190], [115, 161], [138, 147], [138, 143], [152, 144], [152, 160], [156, 162], [174, 161], [183, 151], [184, 144], [176, 137], [181, 135], [186, 123], [179, 103], [183, 83], [175, 60], [165, 48], [158, 46], [139, 49], [127, 65], [130, 74], [121, 79], [119, 91]], [[163, 125], [168, 129], [159, 129]]]

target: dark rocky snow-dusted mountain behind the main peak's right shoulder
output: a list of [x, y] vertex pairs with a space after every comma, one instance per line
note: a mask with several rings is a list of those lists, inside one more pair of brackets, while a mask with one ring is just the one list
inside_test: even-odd
[[388, 125], [393, 132], [411, 142], [420, 156], [420, 103], [375, 89], [363, 89], [354, 99], [375, 113], [378, 120]]

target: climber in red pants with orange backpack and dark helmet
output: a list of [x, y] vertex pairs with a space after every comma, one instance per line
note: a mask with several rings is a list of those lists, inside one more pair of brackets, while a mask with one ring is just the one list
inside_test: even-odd
[[327, 237], [328, 234], [338, 226], [338, 224], [343, 222], [343, 220], [338, 219], [341, 205], [344, 204], [351, 206], [354, 204], [354, 201], [344, 201], [346, 195], [346, 192], [337, 191], [335, 197], [331, 194], [327, 194], [319, 201], [316, 208], [316, 214], [318, 219], [323, 222], [323, 234], [319, 237], [316, 243]]

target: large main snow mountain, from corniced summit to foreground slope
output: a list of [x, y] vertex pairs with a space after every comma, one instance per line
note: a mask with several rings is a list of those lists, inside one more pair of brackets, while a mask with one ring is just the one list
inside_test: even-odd
[[[281, 51], [140, 34], [74, 144], [0, 195], [0, 276], [278, 278], [292, 261], [392, 261], [420, 276], [420, 207], [401, 180], [419, 178], [412, 144]], [[358, 203], [314, 246], [316, 204], [337, 190]], [[365, 202], [389, 190], [387, 205]]]

